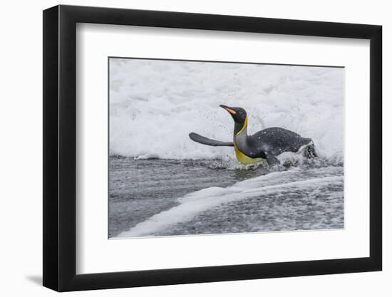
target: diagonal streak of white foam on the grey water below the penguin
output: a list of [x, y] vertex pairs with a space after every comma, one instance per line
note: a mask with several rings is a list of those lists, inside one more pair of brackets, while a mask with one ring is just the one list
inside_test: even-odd
[[319, 195], [331, 185], [343, 184], [342, 167], [323, 167], [310, 170], [273, 172], [237, 182], [231, 187], [209, 187], [179, 197], [178, 205], [140, 222], [118, 237], [153, 236], [171, 226], [197, 216], [201, 212], [235, 200], [274, 194], [274, 199], [284, 199], [290, 192], [307, 192]]

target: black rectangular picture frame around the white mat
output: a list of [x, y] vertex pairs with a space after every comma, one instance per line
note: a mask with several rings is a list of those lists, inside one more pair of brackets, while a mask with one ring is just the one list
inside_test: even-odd
[[[365, 258], [76, 274], [76, 24], [115, 24], [370, 40], [370, 255]], [[56, 291], [380, 271], [382, 27], [86, 6], [43, 11], [43, 286]], [[360, 165], [359, 165], [360, 166]]]

